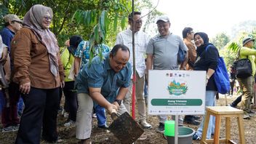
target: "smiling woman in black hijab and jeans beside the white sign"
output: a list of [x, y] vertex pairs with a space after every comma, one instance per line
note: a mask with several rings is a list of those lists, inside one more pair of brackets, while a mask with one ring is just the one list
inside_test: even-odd
[[[217, 60], [219, 53], [217, 48], [209, 43], [209, 38], [207, 33], [199, 32], [195, 33], [194, 41], [196, 44], [196, 62], [194, 64], [195, 71], [207, 71], [206, 77], [206, 97], [205, 97], [205, 106], [215, 106], [215, 95], [217, 94], [217, 87], [213, 74], [217, 68]], [[199, 129], [193, 135], [193, 140], [201, 140], [202, 129], [204, 127], [204, 117], [201, 121]], [[211, 135], [214, 134], [215, 129], [215, 118], [213, 116], [209, 119], [209, 127], [207, 129], [207, 139], [211, 138]]]

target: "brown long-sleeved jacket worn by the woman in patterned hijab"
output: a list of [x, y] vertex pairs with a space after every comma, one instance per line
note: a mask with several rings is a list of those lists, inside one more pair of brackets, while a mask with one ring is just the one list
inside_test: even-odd
[[60, 87], [60, 81], [64, 80], [60, 52], [57, 54], [59, 75], [55, 77], [49, 69], [47, 47], [29, 28], [21, 28], [12, 39], [11, 57], [12, 81], [17, 84], [31, 82], [31, 87], [53, 89]]

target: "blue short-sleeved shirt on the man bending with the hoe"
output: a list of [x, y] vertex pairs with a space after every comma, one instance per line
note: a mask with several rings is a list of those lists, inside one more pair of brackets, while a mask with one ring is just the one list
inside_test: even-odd
[[117, 92], [121, 87], [129, 87], [132, 75], [132, 67], [127, 63], [126, 67], [118, 73], [113, 71], [109, 65], [109, 53], [100, 61], [96, 56], [92, 59], [91, 65], [86, 63], [76, 77], [75, 87], [77, 93], [89, 94], [89, 87], [101, 88], [101, 94], [110, 102], [116, 100]]

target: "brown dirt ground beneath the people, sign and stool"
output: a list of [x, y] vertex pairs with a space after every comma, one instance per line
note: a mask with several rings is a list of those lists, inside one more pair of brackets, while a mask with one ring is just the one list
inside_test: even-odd
[[[236, 95], [233, 95], [233, 97], [227, 97], [228, 103], [231, 103], [236, 98]], [[220, 99], [217, 100], [217, 105], [225, 105], [225, 96], [220, 95]], [[255, 109], [254, 109], [255, 111]], [[256, 116], [255, 116], [256, 117]], [[244, 135], [246, 143], [255, 143], [256, 141], [256, 118], [252, 117], [252, 119], [244, 120]], [[108, 116], [108, 125], [111, 124], [111, 118]], [[159, 132], [156, 132], [156, 129], [159, 125], [159, 121], [157, 119], [157, 116], [148, 116], [148, 122], [152, 124], [152, 129], [145, 129], [145, 135], [148, 136], [146, 140], [137, 140], [135, 143], [141, 144], [141, 143], [159, 143], [164, 144], [167, 143], [167, 140], [164, 139], [163, 135]], [[63, 144], [73, 144], [77, 143], [78, 140], [75, 138], [75, 128], [65, 128], [63, 127], [63, 124], [65, 122], [65, 118], [63, 116], [58, 116], [58, 132], [60, 137], [63, 139]], [[239, 130], [237, 127], [237, 122], [235, 118], [231, 119], [231, 139], [239, 143]], [[113, 136], [113, 134], [107, 130], [99, 129], [97, 128], [97, 119], [93, 119], [93, 128], [92, 128], [92, 143], [120, 143], [116, 137]], [[197, 126], [193, 126], [191, 124], [184, 124], [185, 127], [191, 127], [192, 129], [197, 129]], [[0, 125], [1, 127], [1, 125]], [[0, 144], [9, 144], [14, 143], [15, 137], [17, 132], [7, 132], [3, 133], [0, 132]], [[221, 122], [221, 131], [220, 131], [220, 137], [225, 137], [225, 121], [222, 119]], [[44, 144], [44, 141], [41, 141], [42, 144]], [[199, 143], [199, 141], [193, 141], [194, 144]]]

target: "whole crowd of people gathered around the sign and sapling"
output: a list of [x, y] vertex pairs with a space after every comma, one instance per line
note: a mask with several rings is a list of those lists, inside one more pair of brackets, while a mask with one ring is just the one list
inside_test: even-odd
[[[144, 97], [147, 95], [147, 73], [151, 69], [206, 71], [205, 106], [216, 105], [217, 87], [213, 74], [219, 52], [209, 43], [207, 33], [194, 33], [193, 28], [186, 27], [182, 39], [170, 32], [169, 17], [161, 15], [156, 20], [159, 33], [150, 39], [140, 31], [141, 13], [134, 12], [128, 16], [129, 28], [116, 36], [115, 46], [110, 49], [105, 44], [95, 44], [94, 58], [88, 63], [90, 42], [81, 36], [71, 36], [60, 49], [55, 34], [49, 29], [52, 17], [52, 9], [40, 4], [31, 7], [23, 20], [12, 14], [4, 17], [5, 28], [0, 32], [0, 63], [4, 66], [4, 78], [9, 87], [1, 84], [0, 100], [4, 105], [1, 123], [2, 132], [18, 130], [15, 143], [40, 143], [41, 139], [49, 143], [61, 142], [57, 135], [57, 113], [62, 95], [65, 96], [64, 111], [68, 113], [64, 127], [76, 127], [79, 143], [91, 143], [93, 113], [97, 116], [97, 127], [108, 129], [106, 113], [130, 113], [133, 85], [136, 87], [137, 122], [141, 127], [151, 129], [152, 125], [146, 119], [147, 100]], [[135, 73], [132, 71], [132, 31], [135, 31]], [[239, 100], [231, 106], [236, 107], [241, 101], [244, 119], [254, 113], [250, 108], [255, 96], [254, 41], [244, 39], [239, 56], [249, 57], [252, 76], [236, 79], [232, 67], [230, 70], [230, 95], [233, 95], [236, 80], [242, 91]], [[179, 49], [187, 52], [183, 63], [177, 62]], [[97, 56], [99, 52], [103, 52], [103, 59]], [[21, 105], [20, 108], [17, 105]], [[159, 115], [157, 132], [164, 132], [167, 119], [168, 116]], [[201, 139], [204, 116], [201, 120], [200, 116], [192, 115], [178, 119], [179, 126], [183, 126], [183, 122], [199, 125], [193, 140]], [[214, 135], [214, 127], [215, 117], [212, 116], [207, 139]]]

